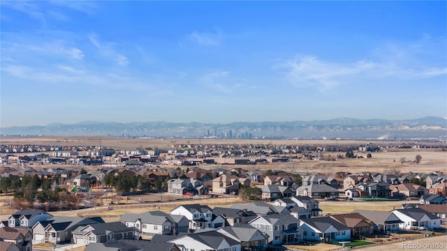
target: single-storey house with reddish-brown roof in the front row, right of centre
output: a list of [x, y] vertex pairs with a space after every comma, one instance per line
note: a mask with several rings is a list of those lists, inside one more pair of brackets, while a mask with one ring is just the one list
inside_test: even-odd
[[374, 222], [363, 217], [360, 213], [330, 215], [330, 218], [349, 227], [351, 229], [352, 238], [358, 238], [360, 236], [374, 233]]

